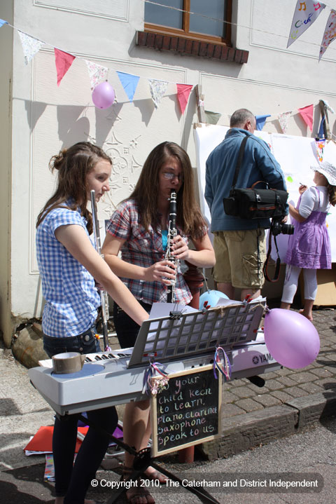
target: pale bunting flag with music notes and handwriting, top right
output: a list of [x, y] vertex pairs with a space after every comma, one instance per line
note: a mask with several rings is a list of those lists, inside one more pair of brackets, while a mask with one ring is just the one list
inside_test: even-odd
[[290, 27], [290, 34], [287, 43], [287, 48], [291, 43], [295, 42], [302, 33], [306, 31], [325, 8], [318, 0], [297, 0], [292, 26]]

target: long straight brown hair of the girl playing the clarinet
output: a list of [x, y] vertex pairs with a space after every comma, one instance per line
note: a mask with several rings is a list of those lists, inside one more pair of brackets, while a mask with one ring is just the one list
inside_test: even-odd
[[[158, 225], [158, 196], [160, 168], [170, 157], [178, 159], [183, 172], [183, 184], [177, 197], [176, 222], [187, 236], [200, 238], [205, 220], [195, 197], [193, 168], [186, 151], [174, 142], [157, 145], [148, 155], [137, 185], [131, 196], [139, 205], [141, 221], [148, 231]], [[129, 199], [127, 198], [127, 199]]]

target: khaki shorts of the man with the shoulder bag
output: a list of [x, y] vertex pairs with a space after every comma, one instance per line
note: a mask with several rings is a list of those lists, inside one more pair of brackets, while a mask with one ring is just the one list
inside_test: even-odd
[[266, 260], [265, 229], [215, 231], [214, 250], [216, 265], [212, 274], [216, 282], [230, 283], [237, 289], [260, 289], [262, 287], [264, 284], [262, 266]]

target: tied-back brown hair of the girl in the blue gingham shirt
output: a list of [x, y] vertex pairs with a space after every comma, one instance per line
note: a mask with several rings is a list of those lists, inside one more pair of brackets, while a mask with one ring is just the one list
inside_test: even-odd
[[[55, 193], [45, 203], [38, 214], [36, 228], [45, 216], [54, 208], [66, 207], [76, 210], [80, 207], [80, 214], [87, 219], [87, 229], [92, 231], [92, 215], [87, 210], [87, 174], [94, 165], [104, 159], [112, 164], [111, 158], [97, 145], [90, 142], [78, 142], [69, 149], [59, 151], [49, 162], [51, 172], [58, 171], [58, 183]], [[69, 202], [69, 200], [71, 200]], [[66, 205], [64, 204], [65, 202]]]

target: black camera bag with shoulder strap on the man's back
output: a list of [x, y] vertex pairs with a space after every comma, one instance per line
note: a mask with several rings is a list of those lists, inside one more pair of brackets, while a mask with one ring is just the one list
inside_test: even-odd
[[235, 187], [239, 174], [241, 161], [244, 158], [244, 149], [248, 137], [244, 137], [239, 149], [235, 175], [228, 198], [223, 198], [225, 214], [239, 217], [240, 219], [268, 219], [284, 217], [286, 215], [287, 191], [281, 189], [255, 189], [255, 185], [263, 182], [258, 180], [252, 187], [237, 189]]

